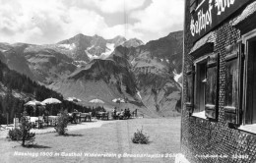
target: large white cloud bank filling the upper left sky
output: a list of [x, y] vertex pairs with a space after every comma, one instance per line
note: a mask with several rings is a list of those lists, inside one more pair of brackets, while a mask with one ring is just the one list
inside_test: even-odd
[[0, 41], [54, 43], [77, 33], [94, 35], [107, 27], [94, 11], [61, 0], [0, 0]]

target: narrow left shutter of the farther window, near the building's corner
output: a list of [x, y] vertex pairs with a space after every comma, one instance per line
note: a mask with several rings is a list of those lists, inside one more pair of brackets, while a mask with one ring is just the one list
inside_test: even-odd
[[195, 67], [192, 66], [191, 70], [187, 73], [187, 82], [186, 82], [186, 106], [189, 110], [189, 113], [192, 114], [194, 110], [194, 82], [195, 82]]

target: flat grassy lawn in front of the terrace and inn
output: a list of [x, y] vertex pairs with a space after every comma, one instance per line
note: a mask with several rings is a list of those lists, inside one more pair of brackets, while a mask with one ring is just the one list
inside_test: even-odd
[[[142, 128], [150, 136], [150, 143], [133, 143], [132, 136]], [[30, 148], [0, 138], [0, 162], [160, 163], [174, 162], [173, 154], [180, 152], [180, 117], [119, 120], [100, 128], [68, 131], [68, 134], [36, 135], [36, 144]]]

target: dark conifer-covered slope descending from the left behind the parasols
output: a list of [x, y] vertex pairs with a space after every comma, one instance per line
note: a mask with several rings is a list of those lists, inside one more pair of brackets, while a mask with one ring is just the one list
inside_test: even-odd
[[7, 117], [9, 122], [13, 121], [15, 115], [19, 117], [24, 111], [26, 102], [32, 99], [42, 101], [49, 97], [62, 101], [62, 104], [57, 106], [57, 112], [61, 107], [69, 111], [73, 111], [73, 109], [83, 112], [91, 111], [90, 108], [64, 100], [60, 93], [32, 81], [25, 75], [10, 70], [0, 61], [0, 124], [5, 124]]

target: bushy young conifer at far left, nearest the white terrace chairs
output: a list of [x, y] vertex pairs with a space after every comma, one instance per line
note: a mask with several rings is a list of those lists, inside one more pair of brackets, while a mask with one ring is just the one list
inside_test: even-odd
[[32, 125], [27, 120], [27, 118], [23, 116], [21, 118], [20, 129], [13, 129], [9, 131], [9, 137], [12, 140], [21, 140], [23, 146], [30, 145], [33, 143], [35, 138], [35, 134], [30, 132], [31, 129]]

